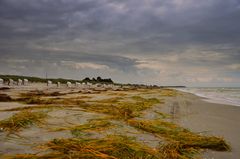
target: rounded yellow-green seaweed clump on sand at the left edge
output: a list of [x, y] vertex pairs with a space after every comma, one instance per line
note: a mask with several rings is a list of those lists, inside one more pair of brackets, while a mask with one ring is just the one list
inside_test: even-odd
[[43, 123], [44, 118], [47, 117], [45, 112], [21, 111], [13, 116], [0, 121], [0, 127], [5, 131], [14, 132], [22, 128], [27, 128], [34, 124]]

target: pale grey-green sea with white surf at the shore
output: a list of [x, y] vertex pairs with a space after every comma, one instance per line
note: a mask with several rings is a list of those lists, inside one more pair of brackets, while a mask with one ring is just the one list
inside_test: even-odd
[[204, 97], [208, 102], [240, 106], [240, 87], [187, 87], [178, 90]]

